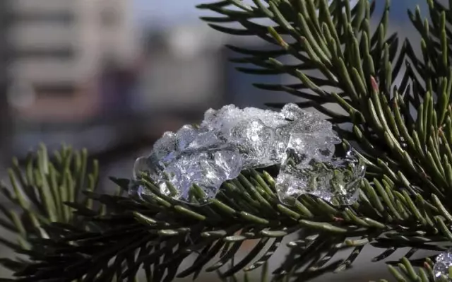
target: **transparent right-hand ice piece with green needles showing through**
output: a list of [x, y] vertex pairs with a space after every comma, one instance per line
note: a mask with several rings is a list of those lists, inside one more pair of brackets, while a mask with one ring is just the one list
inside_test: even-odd
[[340, 205], [355, 203], [364, 177], [364, 164], [353, 151], [347, 151], [345, 158], [332, 158], [328, 152], [328, 159], [323, 153], [306, 153], [313, 148], [323, 152], [310, 139], [292, 136], [276, 178], [280, 201], [292, 205], [302, 194], [311, 194], [331, 204], [335, 204], [333, 199]]

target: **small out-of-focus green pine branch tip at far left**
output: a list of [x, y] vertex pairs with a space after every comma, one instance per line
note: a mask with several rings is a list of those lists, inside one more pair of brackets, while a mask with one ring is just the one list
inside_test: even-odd
[[[55, 152], [54, 162], [49, 162], [47, 149], [40, 146], [37, 158], [28, 155], [25, 171], [20, 169], [17, 159], [13, 160], [12, 168], [8, 170], [12, 189], [3, 184], [0, 187], [6, 199], [6, 203], [0, 205], [4, 216], [0, 225], [16, 233], [17, 242], [2, 239], [2, 244], [18, 254], [40, 253], [44, 249], [35, 244], [36, 240], [58, 238], [44, 226], [52, 222], [73, 228], [83, 226], [83, 222], [73, 216], [71, 208], [64, 203], [78, 201], [86, 208], [93, 207], [93, 201], [80, 194], [81, 189], [95, 191], [97, 187], [98, 164], [95, 161], [87, 172], [87, 156], [86, 151], [73, 152], [64, 146], [61, 151]], [[24, 262], [4, 259], [0, 263], [17, 271]]]

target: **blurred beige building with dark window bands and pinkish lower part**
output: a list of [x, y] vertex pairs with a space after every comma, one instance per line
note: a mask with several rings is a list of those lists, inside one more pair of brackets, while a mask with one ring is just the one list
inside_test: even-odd
[[95, 116], [105, 61], [124, 66], [136, 57], [131, 2], [10, 1], [7, 76], [16, 117], [80, 122]]

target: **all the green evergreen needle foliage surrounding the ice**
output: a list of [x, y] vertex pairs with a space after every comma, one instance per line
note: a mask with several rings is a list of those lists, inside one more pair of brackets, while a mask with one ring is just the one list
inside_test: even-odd
[[[12, 192], [1, 188], [18, 209], [0, 207], [6, 218], [0, 225], [18, 234], [18, 243], [1, 240], [20, 254], [0, 261], [15, 272], [13, 281], [134, 281], [140, 269], [146, 281], [196, 278], [201, 271], [235, 281], [239, 271], [257, 268], [262, 281], [307, 281], [349, 269], [366, 245], [381, 249], [374, 262], [408, 247], [404, 257], [386, 262], [393, 277], [433, 281], [434, 257], [411, 257], [419, 250], [443, 252], [452, 242], [452, 3], [446, 8], [427, 0], [428, 19], [418, 8], [409, 12], [422, 37], [417, 57], [412, 42], [399, 47], [400, 37], [387, 34], [388, 1], [374, 32], [374, 8], [382, 4], [376, 1], [353, 7], [343, 0], [253, 2], [198, 8], [221, 15], [203, 20], [222, 33], [273, 44], [266, 51], [228, 47], [241, 55], [233, 61], [246, 64], [239, 71], [298, 78], [297, 84], [256, 87], [304, 98], [300, 107], [326, 114], [343, 145], [358, 148], [368, 168], [359, 201], [334, 206], [303, 195], [284, 206], [272, 168], [243, 171], [204, 206], [160, 194], [145, 175], [138, 182], [112, 178], [119, 192], [99, 194], [97, 163], [88, 168], [85, 151], [62, 148], [49, 160], [42, 147], [24, 169], [13, 162]], [[280, 58], [287, 55], [297, 63], [284, 64]], [[331, 110], [331, 103], [341, 110]], [[126, 191], [133, 185], [153, 194], [131, 199]], [[292, 233], [299, 239], [287, 244], [290, 254], [269, 274], [267, 260]], [[234, 262], [246, 240], [257, 244]], [[333, 261], [343, 249], [350, 255]], [[189, 256], [195, 257], [191, 266], [179, 269]]]

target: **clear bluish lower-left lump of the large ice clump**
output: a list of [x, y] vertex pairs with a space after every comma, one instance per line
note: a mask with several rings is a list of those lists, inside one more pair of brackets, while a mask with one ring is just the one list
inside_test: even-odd
[[[200, 136], [206, 135], [203, 132]], [[200, 141], [194, 139], [193, 142], [196, 144]], [[187, 146], [186, 151], [174, 154], [172, 161], [167, 163], [155, 159], [154, 154], [148, 158], [138, 158], [134, 168], [136, 177], [139, 172], [147, 172], [160, 187], [160, 192], [174, 199], [192, 201], [190, 192], [194, 184], [201, 188], [198, 202], [212, 199], [223, 182], [239, 175], [243, 167], [242, 156], [237, 148], [227, 144], [205, 146], [199, 150], [196, 147], [200, 144], [193, 146], [194, 143]], [[138, 193], [144, 192], [141, 190]]]

